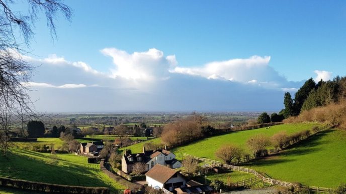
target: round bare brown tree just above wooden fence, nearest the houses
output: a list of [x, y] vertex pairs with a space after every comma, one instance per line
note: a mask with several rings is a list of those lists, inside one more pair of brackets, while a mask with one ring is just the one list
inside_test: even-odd
[[216, 157], [222, 159], [225, 163], [230, 164], [234, 159], [240, 158], [242, 150], [232, 144], [221, 146], [216, 152]]

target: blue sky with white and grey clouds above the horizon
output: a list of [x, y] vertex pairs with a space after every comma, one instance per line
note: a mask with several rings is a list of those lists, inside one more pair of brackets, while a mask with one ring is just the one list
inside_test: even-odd
[[279, 111], [346, 74], [345, 1], [65, 3], [72, 22], [52, 40], [40, 17], [23, 56], [39, 111]]

